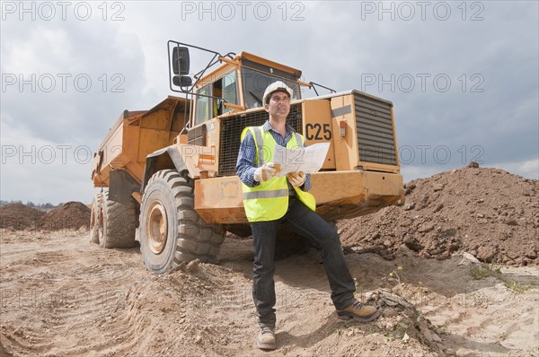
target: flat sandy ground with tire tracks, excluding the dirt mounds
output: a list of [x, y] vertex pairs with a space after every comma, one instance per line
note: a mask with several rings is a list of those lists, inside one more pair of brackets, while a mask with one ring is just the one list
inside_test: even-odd
[[[506, 267], [504, 279], [474, 280], [469, 259], [387, 261], [349, 254], [358, 297], [398, 293], [436, 336], [385, 313], [376, 323], [336, 318], [317, 252], [279, 260], [278, 350], [254, 347], [251, 240], [225, 239], [217, 265], [149, 274], [138, 248], [102, 249], [85, 231], [2, 231], [2, 355], [40, 356], [537, 356], [539, 271]], [[402, 266], [402, 269], [399, 269]], [[393, 277], [389, 274], [393, 272]], [[397, 279], [398, 278], [398, 279]], [[418, 318], [419, 321], [419, 318]], [[439, 336], [439, 339], [437, 339]], [[426, 343], [433, 341], [434, 344]]]

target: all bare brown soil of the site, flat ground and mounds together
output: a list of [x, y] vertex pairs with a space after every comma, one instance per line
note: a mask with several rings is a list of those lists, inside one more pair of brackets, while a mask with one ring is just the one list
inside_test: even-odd
[[[402, 205], [338, 222], [356, 296], [383, 316], [336, 317], [320, 252], [280, 259], [271, 353], [253, 344], [252, 239], [229, 234], [215, 265], [155, 275], [139, 248], [91, 243], [83, 204], [4, 206], [0, 355], [537, 356], [538, 185], [453, 170], [406, 184]], [[58, 227], [71, 218], [86, 222]]]

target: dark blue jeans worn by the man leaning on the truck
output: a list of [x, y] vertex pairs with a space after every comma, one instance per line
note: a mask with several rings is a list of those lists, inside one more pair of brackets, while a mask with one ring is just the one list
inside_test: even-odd
[[344, 260], [339, 234], [322, 217], [311, 211], [296, 197], [290, 197], [287, 213], [276, 221], [252, 222], [254, 265], [252, 299], [261, 327], [275, 328], [275, 241], [280, 225], [310, 239], [322, 248], [323, 266], [331, 287], [331, 300], [336, 309], [348, 308], [354, 302], [356, 286]]

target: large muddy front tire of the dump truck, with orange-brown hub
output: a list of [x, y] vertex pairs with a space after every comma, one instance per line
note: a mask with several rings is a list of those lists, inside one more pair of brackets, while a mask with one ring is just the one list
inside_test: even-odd
[[208, 224], [194, 210], [192, 180], [160, 170], [148, 181], [140, 206], [140, 251], [146, 268], [170, 272], [181, 262], [213, 262], [225, 239], [221, 224]]

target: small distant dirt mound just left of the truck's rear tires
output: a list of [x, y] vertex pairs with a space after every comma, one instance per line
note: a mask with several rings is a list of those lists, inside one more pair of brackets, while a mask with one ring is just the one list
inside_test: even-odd
[[48, 231], [88, 229], [90, 209], [81, 202], [67, 202], [40, 217], [40, 229]]

